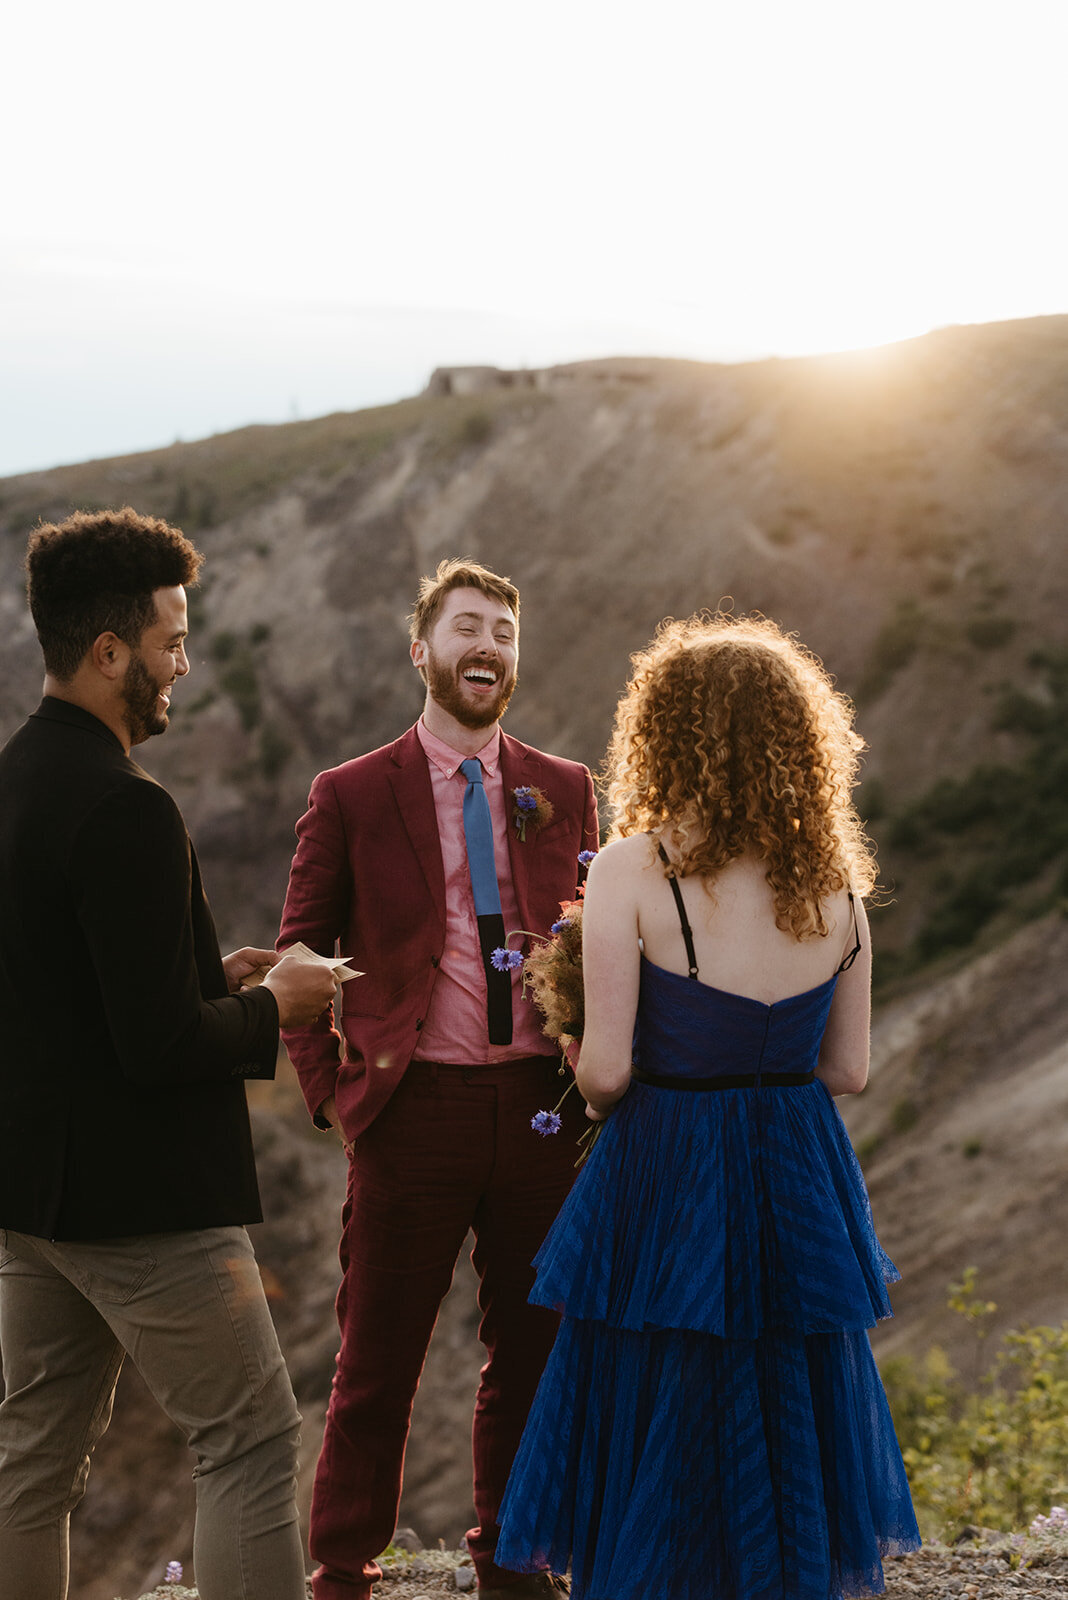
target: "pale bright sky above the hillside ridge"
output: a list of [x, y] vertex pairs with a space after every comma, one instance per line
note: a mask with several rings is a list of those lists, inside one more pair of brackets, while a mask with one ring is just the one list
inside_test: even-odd
[[1068, 312], [1060, 0], [54, 0], [5, 21], [0, 475]]

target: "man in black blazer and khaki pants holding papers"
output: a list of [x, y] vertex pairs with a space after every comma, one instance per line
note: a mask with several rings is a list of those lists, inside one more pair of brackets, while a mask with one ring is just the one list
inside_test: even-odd
[[304, 1597], [243, 1080], [334, 986], [221, 957], [181, 813], [130, 758], [189, 672], [200, 563], [130, 509], [29, 546], [45, 699], [0, 752], [0, 1600], [64, 1600], [126, 1352], [197, 1453], [201, 1600]]

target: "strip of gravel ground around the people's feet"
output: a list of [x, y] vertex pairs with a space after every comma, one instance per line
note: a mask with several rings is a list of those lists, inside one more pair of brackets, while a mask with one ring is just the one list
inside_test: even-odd
[[[462, 1550], [401, 1552], [382, 1566], [381, 1600], [448, 1600], [472, 1592], [473, 1571]], [[195, 1589], [161, 1584], [142, 1600], [195, 1597]], [[886, 1600], [1068, 1600], [1068, 1538], [1026, 1539], [1018, 1547], [1001, 1538], [927, 1544], [886, 1563]]]

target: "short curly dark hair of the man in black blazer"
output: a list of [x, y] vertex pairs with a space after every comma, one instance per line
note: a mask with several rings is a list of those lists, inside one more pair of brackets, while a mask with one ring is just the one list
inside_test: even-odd
[[160, 517], [77, 510], [35, 528], [26, 550], [27, 594], [46, 670], [67, 683], [93, 640], [136, 646], [155, 621], [157, 589], [197, 582], [203, 555]]

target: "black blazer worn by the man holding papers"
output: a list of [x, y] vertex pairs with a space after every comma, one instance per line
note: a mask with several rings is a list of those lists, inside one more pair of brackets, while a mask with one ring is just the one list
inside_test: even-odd
[[174, 800], [46, 698], [0, 750], [0, 1227], [259, 1221], [243, 1080], [277, 1051], [270, 990], [227, 994]]

